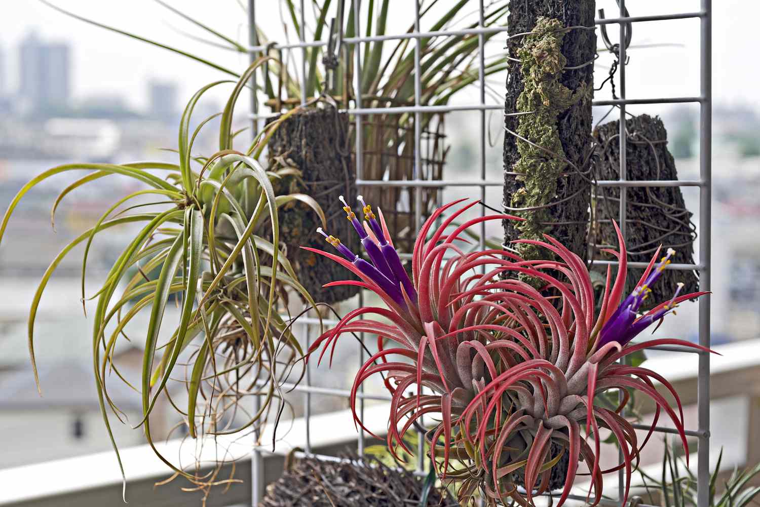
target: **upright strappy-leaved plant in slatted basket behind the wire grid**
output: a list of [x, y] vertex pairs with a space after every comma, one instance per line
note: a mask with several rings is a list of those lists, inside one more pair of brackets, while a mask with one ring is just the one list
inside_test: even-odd
[[[202, 19], [196, 19], [185, 14], [181, 8], [175, 8], [161, 0], [157, 0], [157, 2], [182, 21], [189, 21], [194, 25], [200, 33], [199, 36], [193, 34], [194, 39], [209, 43], [209, 46], [215, 50], [221, 48], [248, 54], [249, 42], [251, 41], [246, 40], [245, 43], [240, 43], [232, 36], [227, 36], [207, 26]], [[276, 40], [271, 27], [264, 26], [259, 21], [258, 26], [255, 27], [255, 33], [256, 42], [261, 46], [274, 45], [277, 42], [294, 43], [296, 41], [293, 40], [293, 37], [297, 37], [300, 33], [307, 34], [307, 43], [325, 43], [330, 36], [329, 27], [332, 17], [336, 18], [336, 32], [340, 30], [344, 38], [386, 36], [388, 35], [388, 16], [393, 15], [392, 8], [394, 7], [391, 0], [363, 2], [361, 19], [359, 19], [362, 32], [356, 33], [354, 18], [356, 0], [345, 2], [342, 16], [337, 11], [338, 6], [343, 5], [343, 3], [337, 2], [337, 0], [313, 2], [312, 6], [307, 7], [303, 17], [299, 11], [298, 2], [293, 0], [274, 2], [273, 0], [269, 3], [282, 8], [281, 26], [285, 40]], [[478, 35], [476, 33], [451, 35], [446, 32], [448, 30], [477, 28], [480, 26], [480, 20], [473, 17], [471, 2], [468, 0], [457, 0], [457, 2], [451, 2], [452, 5], [442, 5], [443, 3], [439, 0], [426, 0], [420, 6], [420, 23], [425, 27], [425, 30], [444, 32], [442, 35], [420, 39], [420, 104], [423, 106], [445, 106], [450, 103], [455, 95], [466, 90], [470, 84], [477, 84], [479, 80]], [[219, 65], [214, 62], [214, 59], [187, 52], [179, 47], [168, 46], [137, 33], [109, 27], [55, 6], [53, 8], [62, 14], [76, 17], [80, 21], [120, 33], [142, 43], [168, 49], [185, 58], [214, 68], [216, 71], [238, 77], [235, 71]], [[503, 24], [507, 13], [507, 0], [486, 2], [483, 27], [497, 27]], [[259, 19], [261, 20], [261, 18]], [[306, 27], [302, 27], [302, 19], [305, 21]], [[343, 22], [342, 27], [340, 27], [341, 21]], [[411, 33], [412, 31], [413, 25], [410, 24], [406, 32]], [[483, 39], [487, 43], [494, 36], [497, 36], [496, 33], [484, 33]], [[257, 71], [259, 92], [263, 96], [262, 98], [265, 97], [264, 104], [272, 113], [279, 114], [298, 106], [302, 103], [302, 97], [306, 97], [307, 102], [313, 103], [318, 97], [328, 96], [341, 108], [349, 107], [351, 102], [356, 103], [359, 98], [363, 107], [401, 107], [415, 104], [416, 43], [414, 39], [381, 39], [364, 43], [363, 52], [360, 55], [360, 97], [356, 97], [357, 92], [353, 84], [353, 77], [356, 75], [356, 48], [359, 45], [344, 43], [341, 52], [338, 54], [328, 53], [330, 47], [327, 45], [312, 46], [306, 48], [305, 52], [302, 53], [300, 49], [282, 51], [272, 46], [260, 53], [283, 60], [282, 65], [277, 60], [273, 60], [270, 65], [262, 66]], [[306, 58], [305, 84], [300, 82], [302, 78], [298, 75], [299, 71], [294, 70], [299, 67], [297, 59], [302, 54]], [[483, 72], [488, 77], [499, 71], [504, 71], [506, 67], [505, 59], [501, 55], [495, 55], [493, 58], [486, 59]], [[334, 79], [328, 80], [328, 68], [334, 68]], [[492, 93], [490, 88], [486, 91], [489, 94]], [[496, 93], [493, 95], [496, 100], [502, 100], [502, 97], [498, 97]], [[296, 123], [310, 122], [312, 118], [293, 118], [292, 121]], [[375, 181], [382, 181], [383, 179], [441, 179], [446, 154], [442, 117], [439, 114], [424, 112], [420, 115], [421, 125], [415, 125], [414, 122], [415, 115], [410, 112], [403, 114], [378, 113], [363, 116], [361, 127], [364, 140], [363, 153], [353, 154], [354, 160], [356, 157], [361, 157], [363, 161], [362, 179]], [[314, 128], [318, 128], [318, 126], [319, 123], [316, 122]], [[350, 139], [355, 139], [354, 128], [356, 125], [351, 122], [348, 134]], [[423, 133], [422, 167], [416, 167], [413, 153], [413, 132], [416, 128], [419, 128], [420, 132]], [[349, 142], [348, 146], [350, 150], [354, 150], [355, 143]], [[278, 147], [283, 152], [287, 152], [290, 148], [299, 149], [295, 145], [286, 147], [280, 144]], [[352, 163], [351, 171], [355, 177], [353, 166]], [[310, 169], [302, 166], [298, 168], [303, 173], [310, 171]], [[354, 189], [352, 192], [340, 193], [348, 196], [356, 195], [357, 192]], [[410, 249], [413, 245], [413, 233], [416, 229], [414, 221], [416, 198], [414, 192], [410, 189], [367, 186], [359, 189], [358, 193], [363, 193], [368, 199], [382, 205], [386, 211], [391, 233], [394, 234], [400, 248], [408, 251], [407, 247]], [[435, 210], [439, 203], [438, 193], [438, 189], [434, 187], [422, 189], [420, 213], [423, 217], [429, 216]], [[342, 293], [337, 291], [332, 297], [337, 299], [344, 296], [345, 293], [350, 293], [350, 291], [344, 288]]]

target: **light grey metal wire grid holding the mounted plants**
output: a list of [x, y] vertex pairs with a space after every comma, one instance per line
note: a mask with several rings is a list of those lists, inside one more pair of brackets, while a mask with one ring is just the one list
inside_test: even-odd
[[[263, 2], [264, 4], [269, 4]], [[464, 30], [439, 30], [439, 31], [426, 31], [420, 30], [420, 9], [422, 0], [415, 0], [414, 2], [414, 27], [413, 30], [407, 33], [399, 33], [394, 35], [384, 36], [355, 36], [345, 37], [342, 39], [345, 45], [352, 45], [356, 51], [353, 52], [355, 61], [353, 62], [355, 73], [353, 76], [354, 86], [356, 90], [354, 93], [355, 100], [353, 106], [350, 104], [344, 104], [346, 109], [341, 109], [341, 112], [347, 112], [353, 116], [353, 122], [355, 122], [356, 132], [361, 131], [363, 124], [363, 118], [373, 113], [382, 114], [404, 114], [412, 113], [415, 116], [414, 121], [414, 167], [415, 172], [413, 179], [408, 180], [391, 180], [391, 181], [377, 181], [364, 179], [363, 173], [363, 157], [356, 157], [356, 185], [370, 186], [381, 185], [388, 187], [403, 187], [404, 189], [413, 190], [413, 198], [415, 199], [414, 223], [419, 228], [423, 221], [423, 190], [429, 189], [429, 187], [435, 187], [439, 189], [445, 189], [453, 186], [466, 186], [477, 187], [480, 189], [480, 198], [485, 201], [486, 189], [488, 187], [503, 185], [502, 180], [489, 180], [486, 179], [486, 113], [489, 110], [501, 110], [502, 104], [489, 104], [486, 103], [486, 77], [485, 77], [485, 35], [489, 33], [502, 33], [507, 31], [507, 27], [486, 27], [484, 22], [484, 0], [474, 0], [477, 2], [478, 11], [480, 14], [480, 20], [478, 27], [469, 28]], [[262, 3], [262, 2], [259, 2]], [[354, 15], [354, 31], [355, 33], [361, 33], [360, 20], [361, 9], [360, 0], [353, 2]], [[306, 77], [306, 55], [307, 49], [311, 47], [327, 46], [325, 42], [306, 42], [306, 23], [305, 23], [305, 0], [300, 0], [300, 33], [299, 41], [296, 43], [287, 44], [270, 44], [269, 46], [261, 46], [258, 43], [258, 36], [255, 30], [256, 26], [256, 4], [255, 0], [249, 0], [249, 55], [251, 62], [258, 58], [262, 52], [268, 50], [272, 46], [274, 49], [287, 49], [302, 51], [300, 80], [301, 83], [305, 81]], [[700, 0], [701, 8], [699, 11], [682, 12], [676, 14], [657, 14], [657, 15], [644, 15], [644, 16], [629, 16], [628, 11], [625, 8], [625, 0], [618, 0], [619, 13], [618, 17], [601, 18], [594, 21], [597, 26], [608, 26], [617, 24], [619, 27], [619, 40], [625, 40], [627, 27], [633, 23], [643, 23], [649, 21], [670, 21], [670, 20], [682, 20], [682, 19], [698, 19], [699, 20], [699, 39], [700, 39], [700, 95], [698, 97], [651, 97], [651, 98], [629, 98], [626, 97], [626, 80], [625, 80], [625, 44], [619, 44], [617, 46], [617, 59], [619, 61], [619, 97], [606, 100], [594, 100], [592, 105], [594, 106], [616, 106], [619, 109], [619, 116], [621, 119], [625, 118], [626, 106], [634, 105], [647, 105], [647, 104], [667, 104], [667, 103], [696, 103], [699, 107], [699, 179], [697, 180], [631, 180], [627, 178], [626, 174], [626, 142], [628, 136], [625, 132], [625, 122], [619, 122], [620, 134], [619, 134], [619, 179], [616, 180], [600, 180], [597, 181], [597, 185], [602, 187], [616, 187], [620, 189], [619, 196], [619, 224], [622, 231], [622, 236], [625, 238], [625, 223], [626, 223], [626, 192], [625, 190], [632, 187], [698, 187], [699, 189], [699, 223], [700, 231], [698, 236], [699, 246], [699, 261], [698, 264], [671, 264], [668, 265], [668, 269], [676, 270], [697, 270], [699, 273], [699, 290], [710, 290], [710, 265], [711, 265], [711, 0]], [[431, 36], [465, 36], [465, 35], [477, 35], [478, 36], [478, 81], [477, 87], [479, 87], [479, 98], [477, 103], [467, 105], [446, 105], [446, 106], [430, 106], [422, 103], [421, 95], [421, 83], [420, 83], [420, 60], [422, 39]], [[364, 107], [362, 103], [362, 93], [359, 89], [359, 84], [362, 81], [362, 46], [366, 43], [375, 42], [378, 40], [406, 40], [412, 39], [414, 41], [414, 105], [413, 106], [393, 106], [393, 107]], [[346, 52], [346, 55], [349, 53]], [[256, 88], [256, 76], [252, 77], [253, 89]], [[301, 102], [306, 103], [308, 97], [306, 97], [306, 87], [301, 86], [302, 97]], [[480, 146], [478, 164], [480, 168], [480, 179], [475, 180], [447, 180], [445, 179], [445, 170], [442, 175], [442, 179], [431, 180], [422, 179], [420, 174], [417, 173], [417, 168], [422, 166], [422, 147], [423, 132], [421, 115], [423, 113], [446, 113], [455, 111], [475, 111], [480, 112]], [[262, 119], [266, 119], [269, 116], [267, 114], [260, 114], [259, 103], [255, 93], [252, 93], [251, 100], [251, 119], [253, 123], [254, 132], [258, 132], [258, 127]], [[363, 139], [361, 135], [355, 136], [355, 153], [361, 154], [363, 152]], [[481, 211], [485, 214], [485, 209]], [[480, 247], [484, 248], [486, 238], [485, 223], [480, 224]], [[403, 256], [403, 255], [402, 255]], [[617, 265], [617, 261], [594, 261], [597, 265]], [[629, 262], [630, 268], [645, 268], [644, 262]], [[359, 305], [363, 304], [363, 293], [359, 293]], [[318, 325], [319, 320], [316, 318], [302, 318], [299, 322], [306, 325], [306, 331], [304, 333], [304, 341], [308, 347], [311, 344], [312, 339], [312, 327]], [[323, 322], [330, 324], [330, 321]], [[363, 336], [360, 337], [363, 340]], [[698, 342], [703, 347], [710, 347], [710, 296], [701, 297], [698, 301]], [[709, 505], [709, 491], [708, 491], [708, 477], [709, 472], [709, 456], [710, 456], [710, 356], [708, 353], [688, 349], [686, 347], [678, 346], [659, 346], [653, 347], [657, 350], [667, 350], [680, 353], [698, 353], [698, 428], [686, 429], [687, 436], [694, 436], [698, 439], [698, 494], [697, 494], [697, 506], [707, 507]], [[364, 363], [365, 351], [363, 344], [358, 346], [359, 366]], [[311, 445], [311, 424], [310, 417], [312, 414], [312, 395], [329, 395], [341, 398], [348, 398], [350, 391], [344, 389], [335, 388], [323, 388], [312, 385], [312, 375], [309, 366], [306, 368], [306, 375], [300, 385], [284, 385], [285, 388], [292, 388], [293, 391], [299, 391], [304, 394], [304, 419], [306, 422], [306, 448], [305, 452], [300, 454], [309, 455], [315, 458], [334, 459], [328, 455], [318, 455], [312, 452]], [[359, 386], [359, 393], [357, 395], [359, 405], [357, 411], [359, 417], [363, 418], [364, 405], [366, 399], [389, 401], [389, 396], [383, 395], [368, 395], [363, 391], [363, 386]], [[256, 401], [258, 403], [258, 401]], [[258, 409], [258, 407], [255, 407]], [[642, 424], [633, 424], [635, 429], [649, 429], [649, 426]], [[657, 426], [655, 431], [660, 433], [676, 433], [676, 430]], [[419, 448], [417, 452], [416, 469], [420, 474], [424, 474], [425, 468], [425, 456], [423, 453], [423, 439], [418, 439]], [[363, 455], [366, 448], [366, 441], [363, 432], [359, 432], [356, 440], [357, 451], [359, 455]], [[264, 495], [264, 465], [262, 458], [262, 450], [254, 448], [252, 451], [252, 505], [258, 505], [258, 502]], [[622, 492], [625, 487], [625, 479], [623, 471], [619, 471], [619, 498], [622, 498]], [[576, 499], [584, 501], [584, 496], [570, 495], [569, 499]], [[603, 505], [618, 505], [614, 500], [603, 499]], [[639, 504], [641, 507], [651, 507], [645, 504]]]

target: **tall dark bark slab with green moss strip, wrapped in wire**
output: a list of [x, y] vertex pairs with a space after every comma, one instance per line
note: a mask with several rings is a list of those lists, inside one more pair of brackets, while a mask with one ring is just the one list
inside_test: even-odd
[[[578, 170], [591, 151], [591, 99], [594, 89], [596, 36], [593, 0], [513, 0], [508, 33], [534, 32], [508, 40], [511, 61], [507, 78], [504, 204], [524, 222], [506, 220], [505, 242], [543, 239], [550, 234], [572, 252], [587, 258], [590, 185]], [[581, 66], [582, 65], [582, 66]], [[568, 68], [581, 66], [580, 68]], [[566, 160], [572, 162], [568, 164]], [[548, 252], [517, 246], [528, 259]]]

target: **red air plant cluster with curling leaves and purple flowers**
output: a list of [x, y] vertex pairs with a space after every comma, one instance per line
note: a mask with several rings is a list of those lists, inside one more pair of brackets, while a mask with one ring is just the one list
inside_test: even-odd
[[[450, 216], [442, 216], [461, 202], [445, 205], [426, 220], [414, 245], [410, 280], [393, 248], [382, 212], [378, 220], [362, 201], [366, 222], [360, 223], [344, 201], [369, 261], [323, 231], [345, 259], [309, 250], [339, 262], [361, 280], [335, 281], [328, 286], [354, 284], [372, 290], [387, 308], [353, 309], [322, 334], [309, 352], [323, 346], [321, 360], [329, 347], [334, 351], [341, 334], [377, 335], [378, 352], [356, 373], [352, 409], [359, 385], [372, 375], [385, 374], [385, 385], [392, 393], [387, 437], [391, 452], [395, 455], [397, 445], [406, 449], [404, 433], [423, 415], [440, 420], [426, 438], [439, 476], [461, 481], [461, 499], [480, 487], [493, 502], [511, 497], [521, 505], [532, 503], [533, 496], [548, 490], [551, 468], [567, 453], [569, 465], [558, 507], [570, 493], [581, 459], [591, 474], [594, 505], [601, 499], [602, 474], [625, 468], [625, 504], [632, 466], [661, 410], [673, 421], [687, 457], [689, 452], [681, 404], [672, 385], [651, 369], [626, 366], [619, 360], [656, 345], [707, 350], [673, 339], [631, 343], [636, 334], [678, 303], [705, 293], [676, 293], [669, 302], [637, 314], [641, 301], [651, 292], [648, 287], [670, 263], [673, 252], [669, 251], [657, 265], [655, 254], [634, 292], [616, 307], [626, 272], [625, 245], [618, 231], [621, 252], [610, 251], [619, 260], [618, 272], [610, 284], [611, 271], [607, 269], [601, 310], [595, 315], [594, 290], [584, 262], [556, 239], [546, 236], [545, 242], [521, 242], [541, 246], [559, 261], [524, 261], [500, 249], [460, 249], [458, 244], [466, 242], [460, 234], [467, 227], [486, 220], [519, 220], [496, 214], [454, 227], [454, 220], [477, 204], [463, 205]], [[544, 286], [535, 289], [521, 281], [520, 275], [541, 280]], [[365, 315], [383, 320], [359, 319]], [[394, 342], [395, 347], [384, 348], [385, 341]], [[393, 356], [398, 360], [391, 360]], [[677, 411], [654, 382], [670, 391]], [[641, 442], [621, 415], [625, 402], [616, 410], [604, 407], [600, 398], [594, 402], [595, 396], [606, 391], [622, 392], [627, 401], [629, 390], [647, 395], [656, 406], [652, 427]], [[356, 410], [353, 417], [366, 430]], [[600, 429], [610, 430], [623, 455], [622, 463], [609, 470], [600, 469]], [[551, 455], [550, 448], [561, 451]]]

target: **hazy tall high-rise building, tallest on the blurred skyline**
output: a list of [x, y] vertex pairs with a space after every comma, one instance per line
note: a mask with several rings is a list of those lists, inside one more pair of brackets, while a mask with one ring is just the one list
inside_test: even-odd
[[71, 94], [71, 49], [47, 43], [30, 33], [19, 47], [19, 95], [27, 109], [46, 112], [68, 106]]

